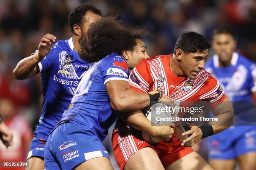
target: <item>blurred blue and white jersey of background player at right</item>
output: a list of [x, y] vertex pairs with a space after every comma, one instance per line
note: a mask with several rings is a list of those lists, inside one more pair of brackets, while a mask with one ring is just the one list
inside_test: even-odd
[[[256, 120], [255, 111], [251, 109], [252, 93], [256, 92], [255, 63], [234, 52], [230, 66], [219, 67], [218, 55], [214, 55], [206, 63], [205, 70], [220, 82], [225, 94], [233, 102], [236, 113], [234, 125], [251, 125], [251, 120]], [[247, 128], [255, 129], [254, 126]]]

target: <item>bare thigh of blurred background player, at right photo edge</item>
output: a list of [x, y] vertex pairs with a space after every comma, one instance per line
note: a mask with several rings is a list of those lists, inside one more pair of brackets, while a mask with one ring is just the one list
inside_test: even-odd
[[241, 170], [256, 170], [256, 152], [238, 156], [238, 162]]

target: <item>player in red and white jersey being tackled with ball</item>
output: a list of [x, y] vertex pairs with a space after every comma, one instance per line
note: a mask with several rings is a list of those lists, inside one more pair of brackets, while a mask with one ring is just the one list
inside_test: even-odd
[[[182, 134], [190, 135], [186, 140], [179, 141], [174, 134], [168, 142], [150, 144], [143, 140], [141, 131], [154, 136], [161, 136], [161, 132], [151, 126], [141, 111], [127, 117], [118, 114], [125, 122], [118, 120], [112, 145], [120, 169], [212, 169], [190, 146], [232, 125], [234, 112], [231, 102], [223, 102], [230, 100], [219, 82], [203, 69], [209, 48], [209, 42], [202, 35], [184, 32], [176, 42], [174, 54], [143, 59], [131, 72], [129, 81], [131, 88], [140, 92], [157, 89], [173, 100], [209, 101], [210, 109], [219, 119], [218, 125], [211, 121], [206, 126], [190, 126], [190, 130]], [[184, 85], [189, 88], [185, 89]], [[123, 127], [128, 127], [128, 134], [121, 135]]]

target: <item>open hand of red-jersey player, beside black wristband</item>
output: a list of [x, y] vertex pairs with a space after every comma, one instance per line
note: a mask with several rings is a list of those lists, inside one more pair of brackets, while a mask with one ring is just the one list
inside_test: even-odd
[[189, 126], [190, 130], [188, 130], [187, 132], [182, 133], [182, 136], [184, 135], [190, 135], [189, 138], [185, 139], [182, 141], [182, 146], [193, 146], [196, 143], [198, 143], [201, 139], [202, 139], [202, 130], [200, 128], [198, 128], [198, 126]]

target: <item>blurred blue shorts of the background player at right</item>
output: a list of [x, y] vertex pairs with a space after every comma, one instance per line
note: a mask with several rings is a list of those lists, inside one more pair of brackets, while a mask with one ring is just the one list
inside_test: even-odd
[[235, 159], [256, 152], [255, 126], [232, 126], [209, 138], [209, 159]]

